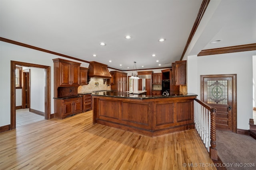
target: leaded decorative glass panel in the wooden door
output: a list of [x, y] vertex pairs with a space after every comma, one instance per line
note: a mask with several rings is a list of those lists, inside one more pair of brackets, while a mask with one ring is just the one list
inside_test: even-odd
[[228, 104], [228, 80], [207, 81], [207, 103]]

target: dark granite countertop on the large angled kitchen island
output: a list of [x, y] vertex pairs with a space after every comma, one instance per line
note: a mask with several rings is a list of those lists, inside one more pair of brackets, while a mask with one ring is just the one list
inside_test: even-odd
[[132, 99], [154, 99], [154, 98], [176, 98], [176, 97], [187, 97], [187, 96], [197, 96], [197, 94], [188, 93], [188, 94], [175, 94], [171, 96], [162, 96], [162, 95], [141, 95], [141, 94], [131, 94], [130, 92], [117, 92], [117, 91], [101, 91], [101, 92], [92, 92], [93, 96], [108, 96], [115, 98], [132, 98]]

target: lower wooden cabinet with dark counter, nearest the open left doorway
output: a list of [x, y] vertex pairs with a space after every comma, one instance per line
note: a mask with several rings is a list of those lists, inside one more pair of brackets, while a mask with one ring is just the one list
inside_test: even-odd
[[55, 99], [54, 110], [58, 118], [64, 119], [82, 113], [82, 97], [70, 99]]

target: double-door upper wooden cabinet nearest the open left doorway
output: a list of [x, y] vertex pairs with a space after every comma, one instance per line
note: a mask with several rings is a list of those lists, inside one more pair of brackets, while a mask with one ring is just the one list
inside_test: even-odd
[[79, 86], [80, 63], [53, 59], [56, 86]]

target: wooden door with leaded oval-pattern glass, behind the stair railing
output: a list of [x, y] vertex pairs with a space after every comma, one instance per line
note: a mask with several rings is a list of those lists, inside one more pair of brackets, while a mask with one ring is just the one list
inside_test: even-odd
[[217, 109], [216, 129], [236, 133], [236, 74], [201, 76], [201, 99]]

